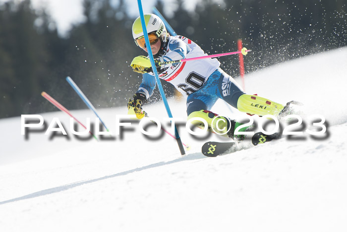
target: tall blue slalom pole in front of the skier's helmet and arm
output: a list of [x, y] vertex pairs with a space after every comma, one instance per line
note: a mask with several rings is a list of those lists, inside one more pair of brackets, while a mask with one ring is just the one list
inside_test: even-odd
[[[145, 23], [145, 16], [143, 14], [141, 0], [137, 0], [137, 4], [138, 4], [138, 8], [139, 8], [141, 25], [142, 25], [142, 30], [143, 30], [143, 35], [144, 35], [144, 38], [145, 38], [145, 42], [146, 42], [148, 56], [149, 56], [149, 59], [151, 61], [151, 65], [152, 65], [152, 70], [153, 70], [154, 76], [156, 78], [157, 85], [158, 85], [158, 88], [159, 88], [159, 92], [160, 92], [160, 95], [162, 96], [162, 99], [163, 99], [166, 111], [168, 113], [168, 116], [169, 116], [169, 118], [173, 118], [173, 115], [172, 115], [170, 107], [169, 107], [168, 100], [166, 99], [166, 96], [165, 96], [165, 93], [164, 93], [164, 89], [163, 89], [162, 83], [160, 82], [160, 78], [159, 78], [159, 75], [158, 75], [158, 72], [157, 72], [157, 68], [156, 68], [156, 65], [155, 65], [155, 62], [154, 62], [153, 53], [152, 53], [152, 49], [151, 49], [151, 44], [149, 43], [149, 38], [148, 38], [148, 34], [147, 34], [147, 28], [146, 28], [146, 23]], [[178, 131], [177, 131], [176, 126], [174, 126], [174, 135], [176, 137], [176, 141], [177, 141], [178, 148], [179, 148], [179, 151], [180, 151], [181, 155], [185, 155], [183, 144], [182, 144], [182, 141], [181, 141], [181, 139], [180, 139], [180, 137], [178, 135]]]

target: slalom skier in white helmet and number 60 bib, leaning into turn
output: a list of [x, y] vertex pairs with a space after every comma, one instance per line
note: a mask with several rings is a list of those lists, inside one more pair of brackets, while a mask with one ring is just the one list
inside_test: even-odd
[[[157, 15], [145, 14], [144, 18], [156, 63], [207, 56], [190, 39], [179, 35], [170, 36], [163, 21]], [[148, 53], [140, 17], [132, 25], [132, 35], [136, 45]], [[133, 99], [129, 99], [127, 106], [128, 109], [133, 107], [136, 114], [144, 114], [142, 106], [153, 93], [156, 79], [148, 57], [135, 57], [130, 66], [134, 72], [143, 74], [143, 77], [140, 87], [133, 95]], [[220, 62], [217, 59], [208, 58], [170, 64], [157, 67], [157, 71], [161, 79], [173, 84], [179, 92], [187, 97], [187, 120], [194, 117], [203, 118], [208, 122], [209, 128], [232, 139], [237, 138], [234, 136], [234, 130], [242, 124], [210, 111], [218, 98], [241, 112], [259, 116], [267, 114], [277, 116], [287, 109], [284, 105], [269, 99], [243, 92], [237, 82], [220, 68]], [[240, 131], [244, 130], [246, 128]]]

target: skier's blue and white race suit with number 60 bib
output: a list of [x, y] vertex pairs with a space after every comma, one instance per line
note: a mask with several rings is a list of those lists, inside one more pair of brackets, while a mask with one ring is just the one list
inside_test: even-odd
[[[190, 39], [183, 36], [170, 36], [165, 54], [161, 61], [174, 61], [185, 58], [202, 57], [207, 54]], [[226, 74], [217, 59], [200, 59], [162, 66], [165, 69], [159, 77], [172, 83], [187, 97], [187, 115], [193, 111], [210, 110], [218, 98], [222, 98], [237, 108], [237, 99], [244, 94], [235, 80]], [[156, 86], [154, 73], [143, 74], [142, 83], [137, 92], [147, 99]]]

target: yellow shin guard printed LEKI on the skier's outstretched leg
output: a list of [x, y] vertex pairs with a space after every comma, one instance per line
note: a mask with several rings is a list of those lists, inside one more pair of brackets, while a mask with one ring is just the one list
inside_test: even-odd
[[244, 113], [264, 116], [267, 114], [278, 115], [284, 106], [256, 95], [243, 94], [237, 100], [237, 109]]

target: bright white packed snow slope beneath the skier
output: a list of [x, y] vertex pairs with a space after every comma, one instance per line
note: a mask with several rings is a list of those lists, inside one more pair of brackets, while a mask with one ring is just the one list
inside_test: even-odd
[[[25, 140], [19, 117], [2, 119], [0, 230], [346, 231], [346, 64], [342, 48], [247, 75], [246, 92], [281, 103], [301, 101], [307, 116], [326, 118], [327, 132], [320, 139], [304, 134], [215, 158], [202, 155], [204, 140], [184, 127], [182, 141], [192, 148], [181, 156], [170, 136], [148, 140], [136, 126], [110, 141], [79, 141], [70, 132], [70, 140], [50, 140], [45, 131]], [[175, 117], [186, 118], [184, 102], [169, 103]], [[145, 110], [166, 117], [163, 103]], [[239, 115], [223, 102], [212, 110]], [[126, 111], [124, 106], [99, 114], [112, 131], [116, 115]], [[94, 117], [89, 110], [72, 114], [82, 122]], [[58, 117], [69, 130], [64, 113], [42, 115], [48, 124]]]

